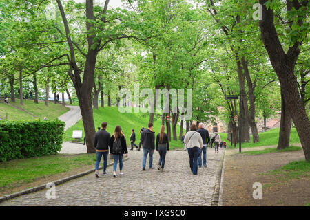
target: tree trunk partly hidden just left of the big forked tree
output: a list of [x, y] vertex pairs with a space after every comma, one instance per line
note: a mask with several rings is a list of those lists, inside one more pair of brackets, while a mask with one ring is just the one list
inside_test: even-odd
[[[281, 89], [282, 90], [282, 89]], [[291, 115], [287, 109], [287, 104], [281, 93], [281, 121], [280, 132], [277, 149], [284, 149], [289, 147], [289, 137], [291, 136]]]

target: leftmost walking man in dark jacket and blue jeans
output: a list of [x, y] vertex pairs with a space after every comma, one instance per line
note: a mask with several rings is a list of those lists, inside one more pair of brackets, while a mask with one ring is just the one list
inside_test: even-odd
[[94, 148], [96, 148], [96, 168], [95, 175], [99, 177], [99, 164], [101, 157], [103, 156], [103, 175], [107, 175], [107, 155], [109, 154], [109, 142], [110, 142], [110, 133], [105, 131], [107, 129], [107, 122], [101, 124], [102, 129], [96, 132], [94, 137]]

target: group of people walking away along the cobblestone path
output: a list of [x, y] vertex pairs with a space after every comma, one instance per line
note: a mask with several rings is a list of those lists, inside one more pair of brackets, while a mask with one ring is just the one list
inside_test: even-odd
[[[116, 169], [119, 164], [119, 175], [123, 175], [123, 155], [128, 157], [127, 144], [125, 135], [121, 129], [121, 126], [116, 126], [113, 135], [106, 131], [107, 122], [101, 124], [101, 129], [96, 132], [94, 137], [94, 147], [96, 148], [96, 165], [95, 165], [95, 175], [99, 176], [99, 163], [101, 157], [103, 157], [103, 175], [107, 175], [107, 156], [110, 153], [114, 157], [113, 165], [113, 176], [117, 177]], [[153, 166], [153, 154], [156, 149], [159, 153], [159, 160], [157, 169], [164, 170], [165, 168], [165, 157], [167, 151], [169, 151], [169, 140], [165, 133], [165, 126], [161, 126], [161, 131], [156, 135], [153, 131], [153, 124], [149, 123], [147, 129], [142, 127], [140, 144], [137, 146], [134, 144], [136, 141], [136, 134], [134, 129], [130, 135], [130, 150], [134, 149], [134, 146], [140, 151], [141, 146], [143, 146], [143, 160], [142, 160], [142, 170], [146, 170], [147, 155], [149, 155], [149, 169], [154, 169]], [[190, 131], [183, 135], [182, 142], [184, 143], [185, 150], [187, 149], [189, 155], [189, 167], [194, 175], [198, 173], [198, 166], [207, 167], [207, 144], [210, 142], [209, 131], [204, 128], [204, 124], [200, 123], [198, 129], [196, 124], [192, 124]], [[218, 152], [218, 146], [220, 140], [220, 135], [217, 133], [214, 135], [214, 144], [216, 146], [216, 152]]]

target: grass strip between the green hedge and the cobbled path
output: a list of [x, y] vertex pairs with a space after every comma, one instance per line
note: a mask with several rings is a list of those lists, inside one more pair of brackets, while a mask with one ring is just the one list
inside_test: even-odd
[[39, 177], [67, 172], [95, 162], [95, 154], [48, 155], [0, 162], [0, 187], [14, 187], [17, 184], [32, 182]]

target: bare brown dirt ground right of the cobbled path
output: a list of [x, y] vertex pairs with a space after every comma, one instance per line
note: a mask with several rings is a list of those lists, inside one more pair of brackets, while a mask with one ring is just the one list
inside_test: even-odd
[[[271, 147], [271, 146], [269, 146]], [[274, 147], [274, 146], [272, 146]], [[255, 151], [260, 148], [245, 148]], [[310, 203], [310, 177], [280, 179], [264, 175], [289, 162], [304, 160], [303, 151], [245, 155], [227, 149], [223, 179], [223, 206], [305, 206]], [[253, 184], [262, 184], [262, 199], [254, 199]]]

